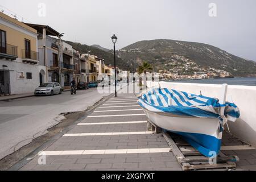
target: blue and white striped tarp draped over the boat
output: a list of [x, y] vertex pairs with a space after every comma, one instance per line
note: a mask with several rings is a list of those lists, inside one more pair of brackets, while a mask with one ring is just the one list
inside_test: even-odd
[[217, 98], [181, 92], [167, 88], [154, 88], [143, 94], [138, 104], [153, 112], [165, 112], [200, 118], [220, 118], [220, 107], [226, 107], [225, 117], [236, 121], [240, 110], [233, 103], [221, 105]]

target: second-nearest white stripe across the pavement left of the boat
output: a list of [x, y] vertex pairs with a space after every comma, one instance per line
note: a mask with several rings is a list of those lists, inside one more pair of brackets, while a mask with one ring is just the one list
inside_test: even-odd
[[153, 134], [152, 131], [138, 131], [138, 132], [116, 132], [116, 133], [75, 133], [65, 134], [63, 137], [85, 137], [85, 136], [102, 136], [102, 135], [143, 135]]

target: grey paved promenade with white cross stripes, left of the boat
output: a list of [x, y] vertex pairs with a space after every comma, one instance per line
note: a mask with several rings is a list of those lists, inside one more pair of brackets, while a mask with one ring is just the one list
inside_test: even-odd
[[[181, 170], [161, 134], [147, 131], [134, 94], [118, 94], [20, 170]], [[42, 153], [43, 154], [43, 153]]]

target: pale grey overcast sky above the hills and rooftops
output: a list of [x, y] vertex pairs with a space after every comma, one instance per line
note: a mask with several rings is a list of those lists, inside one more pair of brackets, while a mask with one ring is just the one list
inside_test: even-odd
[[[42, 2], [46, 16], [38, 15]], [[210, 3], [216, 3], [217, 17], [209, 16]], [[83, 44], [112, 48], [113, 34], [118, 49], [139, 40], [174, 39], [256, 61], [255, 0], [1, 0], [0, 5]]]

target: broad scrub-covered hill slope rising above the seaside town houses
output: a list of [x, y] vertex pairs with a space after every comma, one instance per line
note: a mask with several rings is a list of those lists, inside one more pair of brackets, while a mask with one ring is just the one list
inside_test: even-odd
[[176, 40], [144, 40], [122, 48], [118, 56], [131, 61], [134, 67], [142, 61], [148, 61], [159, 69], [172, 69], [174, 64], [182, 65], [188, 60], [200, 68], [215, 68], [231, 73], [236, 77], [256, 76], [256, 63], [234, 56], [220, 48], [203, 43]]

